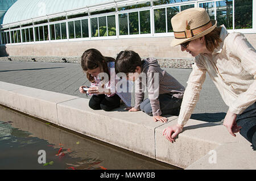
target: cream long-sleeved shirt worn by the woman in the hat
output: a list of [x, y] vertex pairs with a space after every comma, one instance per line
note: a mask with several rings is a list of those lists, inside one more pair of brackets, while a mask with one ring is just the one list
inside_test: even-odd
[[228, 33], [225, 26], [220, 38], [222, 43], [212, 54], [200, 53], [195, 57], [181, 104], [178, 119], [181, 125], [191, 117], [207, 72], [229, 111], [241, 114], [256, 101], [255, 49], [242, 33]]

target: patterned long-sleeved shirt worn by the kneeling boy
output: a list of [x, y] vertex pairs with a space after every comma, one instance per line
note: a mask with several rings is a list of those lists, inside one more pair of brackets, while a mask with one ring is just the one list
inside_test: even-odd
[[[142, 61], [142, 73], [135, 81], [135, 106], [140, 109], [139, 104], [144, 99], [144, 90], [147, 87], [148, 99], [152, 107], [153, 116], [160, 116], [159, 94], [172, 94], [175, 98], [183, 98], [185, 88], [165, 70], [161, 69], [158, 60], [146, 58]], [[144, 81], [143, 81], [143, 76]]]

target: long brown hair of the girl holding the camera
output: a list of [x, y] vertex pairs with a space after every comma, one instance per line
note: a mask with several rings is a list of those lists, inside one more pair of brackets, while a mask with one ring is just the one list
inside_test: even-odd
[[[84, 71], [100, 68], [101, 72], [107, 73], [110, 79], [107, 63], [113, 61], [115, 61], [114, 58], [102, 56], [101, 52], [97, 49], [88, 49], [82, 54], [81, 66]], [[86, 77], [90, 82], [94, 82], [94, 78], [88, 72], [86, 72]]]

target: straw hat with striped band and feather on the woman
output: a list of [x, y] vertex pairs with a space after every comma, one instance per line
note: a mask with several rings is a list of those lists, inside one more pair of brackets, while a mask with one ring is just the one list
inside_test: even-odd
[[217, 21], [210, 20], [207, 11], [201, 7], [179, 12], [172, 17], [171, 23], [175, 36], [171, 43], [173, 47], [207, 35], [217, 26]]

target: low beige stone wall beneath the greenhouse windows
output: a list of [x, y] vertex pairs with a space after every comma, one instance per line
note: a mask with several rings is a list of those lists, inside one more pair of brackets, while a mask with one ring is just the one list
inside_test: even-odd
[[[256, 47], [256, 34], [245, 35]], [[174, 37], [141, 37], [132, 39], [65, 41], [60, 43], [36, 43], [23, 45], [6, 45], [0, 47], [1, 56], [57, 56], [80, 57], [86, 49], [96, 48], [104, 56], [116, 57], [121, 50], [134, 50], [141, 57], [156, 58], [192, 58], [181, 52], [180, 46], [171, 47]]]

